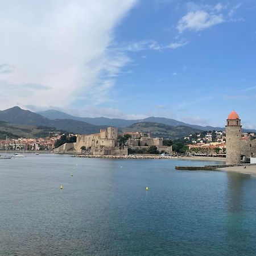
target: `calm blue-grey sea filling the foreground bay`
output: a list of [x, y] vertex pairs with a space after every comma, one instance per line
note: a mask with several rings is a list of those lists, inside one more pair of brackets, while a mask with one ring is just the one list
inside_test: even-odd
[[0, 160], [0, 255], [256, 255], [256, 178], [174, 169], [211, 163]]

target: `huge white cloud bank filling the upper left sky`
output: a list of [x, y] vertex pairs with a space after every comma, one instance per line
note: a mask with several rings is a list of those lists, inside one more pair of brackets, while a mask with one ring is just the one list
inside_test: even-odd
[[[136, 0], [0, 2], [0, 108], [101, 101], [130, 59], [110, 51], [113, 30]], [[8, 63], [8, 64], [6, 64]], [[9, 68], [6, 66], [9, 65]], [[11, 68], [10, 67], [15, 67]], [[11, 71], [11, 72], [8, 72]], [[3, 77], [4, 76], [4, 77]], [[29, 95], [26, 84], [30, 83]], [[15, 94], [6, 90], [15, 85]], [[46, 86], [38, 92], [35, 85]], [[91, 92], [97, 92], [93, 94]]]

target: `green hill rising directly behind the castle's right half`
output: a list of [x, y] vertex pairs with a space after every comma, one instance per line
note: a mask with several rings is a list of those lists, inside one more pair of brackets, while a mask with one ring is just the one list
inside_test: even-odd
[[151, 137], [159, 137], [164, 139], [179, 139], [188, 136], [192, 133], [200, 133], [201, 130], [194, 129], [188, 126], [170, 126], [164, 123], [154, 123], [154, 122], [140, 122], [134, 123], [133, 125], [122, 128], [124, 131], [143, 131], [147, 133], [150, 131]]

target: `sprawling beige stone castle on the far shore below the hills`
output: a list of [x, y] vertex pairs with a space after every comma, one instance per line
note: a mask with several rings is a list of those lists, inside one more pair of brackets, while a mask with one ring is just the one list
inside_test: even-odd
[[128, 155], [128, 148], [149, 148], [156, 146], [160, 151], [167, 154], [172, 154], [172, 147], [163, 146], [163, 138], [151, 138], [150, 133], [127, 132], [123, 135], [130, 135], [125, 145], [118, 143], [118, 129], [117, 127], [108, 127], [108, 129], [101, 129], [100, 133], [89, 135], [76, 135], [75, 143], [65, 143], [55, 152], [86, 152], [92, 155]]

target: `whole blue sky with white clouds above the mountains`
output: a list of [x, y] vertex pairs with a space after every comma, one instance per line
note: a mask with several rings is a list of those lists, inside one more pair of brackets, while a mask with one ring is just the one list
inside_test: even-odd
[[0, 0], [0, 109], [256, 128], [256, 2]]

